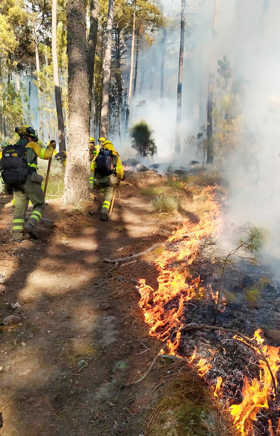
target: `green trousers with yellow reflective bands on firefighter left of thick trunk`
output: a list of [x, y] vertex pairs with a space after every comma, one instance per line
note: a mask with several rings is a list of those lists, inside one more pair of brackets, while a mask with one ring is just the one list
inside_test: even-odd
[[27, 222], [32, 227], [36, 227], [45, 210], [45, 196], [41, 185], [32, 182], [30, 175], [28, 175], [25, 184], [15, 188], [14, 199], [13, 239], [18, 240], [23, 237], [24, 215], [27, 211], [29, 200], [33, 204], [33, 211]]

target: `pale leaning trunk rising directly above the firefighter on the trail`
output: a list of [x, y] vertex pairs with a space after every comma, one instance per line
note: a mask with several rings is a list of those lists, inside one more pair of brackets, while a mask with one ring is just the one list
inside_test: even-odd
[[101, 126], [100, 135], [107, 139], [108, 136], [108, 109], [109, 109], [109, 92], [110, 92], [110, 77], [111, 77], [111, 57], [112, 57], [112, 37], [114, 25], [114, 9], [115, 0], [109, 0], [107, 34], [105, 43], [105, 56], [103, 66], [103, 92], [102, 92], [102, 107], [101, 107]]

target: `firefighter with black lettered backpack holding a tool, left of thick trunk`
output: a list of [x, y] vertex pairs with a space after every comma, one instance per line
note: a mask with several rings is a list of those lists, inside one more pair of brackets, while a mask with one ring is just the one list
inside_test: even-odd
[[[44, 180], [37, 174], [37, 158], [49, 159], [55, 145], [51, 141], [47, 148], [41, 148], [38, 137], [30, 126], [15, 128], [20, 140], [5, 150], [5, 156], [0, 161], [2, 177], [5, 183], [14, 189], [15, 210], [13, 213], [13, 239], [21, 242], [23, 234], [38, 239], [35, 227], [42, 218], [45, 209], [44, 192], [41, 183]], [[29, 200], [33, 204], [32, 214], [24, 225], [24, 215]]]

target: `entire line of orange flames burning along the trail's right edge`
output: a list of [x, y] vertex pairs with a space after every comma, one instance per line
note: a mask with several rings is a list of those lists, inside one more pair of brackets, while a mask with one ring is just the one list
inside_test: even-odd
[[[206, 212], [198, 224], [186, 221], [182, 228], [173, 232], [166, 242], [167, 249], [155, 260], [159, 272], [158, 289], [152, 289], [145, 283], [145, 279], [139, 279], [138, 291], [141, 295], [139, 307], [143, 311], [145, 323], [150, 326], [149, 334], [166, 343], [168, 353], [164, 353], [164, 350], [161, 352], [179, 358], [188, 358], [189, 366], [196, 368], [199, 376], [204, 377], [212, 386], [213, 383], [216, 384], [216, 388], [213, 388], [214, 395], [223, 399], [241, 435], [277, 436], [280, 435], [280, 408], [276, 405], [276, 392], [273, 386], [277, 386], [276, 374], [279, 369], [280, 347], [263, 344], [264, 339], [260, 336], [260, 329], [256, 330], [251, 340], [247, 338], [248, 342], [246, 342], [246, 337], [245, 339], [238, 336], [232, 337], [253, 348], [257, 360], [259, 359], [259, 376], [250, 379], [245, 375], [242, 377], [243, 388], [240, 404], [233, 404], [233, 395], [230, 395], [230, 392], [233, 392], [233, 383], [227, 395], [225, 377], [223, 379], [218, 376], [215, 381], [211, 380], [211, 377], [207, 378], [209, 371], [213, 368], [214, 355], [217, 351], [209, 349], [211, 356], [208, 359], [199, 356], [197, 348], [190, 357], [179, 352], [182, 329], [187, 324], [185, 314], [189, 301], [194, 297], [198, 299], [207, 295], [209, 299], [217, 303], [217, 293], [206, 289], [202, 286], [199, 276], [193, 277], [188, 272], [188, 266], [191, 266], [196, 259], [202, 240], [211, 235], [218, 235], [220, 232], [219, 224], [222, 219], [219, 204], [214, 199], [214, 191], [215, 188], [207, 187], [202, 193], [211, 202], [211, 210]], [[174, 299], [179, 300], [179, 304], [172, 309], [168, 308], [167, 303]], [[221, 305], [221, 311], [223, 311], [223, 304], [225, 302]], [[250, 341], [253, 341], [253, 345]], [[238, 389], [241, 390], [239, 386], [236, 386], [236, 391]], [[270, 412], [270, 417], [264, 415], [264, 410]], [[260, 426], [256, 429], [257, 420], [263, 421], [264, 418], [263, 430], [260, 430]]]

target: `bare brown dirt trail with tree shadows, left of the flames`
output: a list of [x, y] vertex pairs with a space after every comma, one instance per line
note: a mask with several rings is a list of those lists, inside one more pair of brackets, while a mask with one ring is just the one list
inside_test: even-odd
[[[49, 242], [15, 247], [20, 263], [7, 274], [1, 318], [12, 313], [8, 303], [18, 301], [22, 321], [1, 333], [0, 435], [141, 433], [154, 382], [147, 377], [136, 387], [121, 388], [140, 378], [153, 356], [139, 356], [148, 339], [141, 339], [143, 326], [131, 316], [138, 311], [138, 276], [132, 269], [124, 278], [119, 266], [106, 274], [112, 264], [102, 262], [140, 252], [162, 236], [148, 200], [130, 195], [117, 198], [110, 222], [99, 221], [97, 201], [85, 227], [77, 221], [70, 235], [56, 230]], [[57, 214], [50, 203], [45, 217]], [[121, 293], [122, 280], [131, 283], [126, 300], [112, 295], [114, 286]]]

